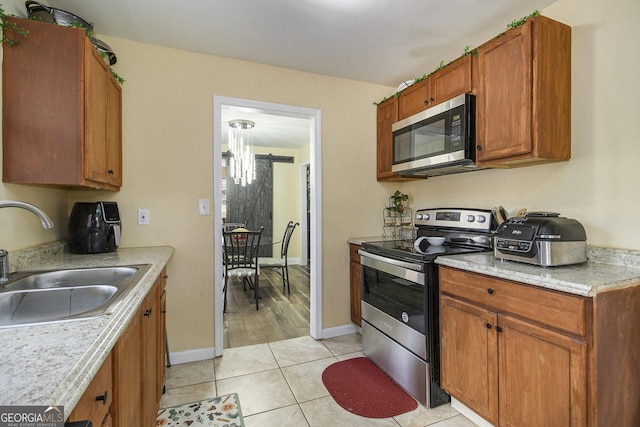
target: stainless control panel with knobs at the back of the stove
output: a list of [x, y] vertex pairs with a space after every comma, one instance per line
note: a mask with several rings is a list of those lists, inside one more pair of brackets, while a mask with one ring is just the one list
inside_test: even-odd
[[416, 211], [416, 226], [446, 227], [489, 232], [493, 216], [490, 210], [475, 209], [419, 209]]

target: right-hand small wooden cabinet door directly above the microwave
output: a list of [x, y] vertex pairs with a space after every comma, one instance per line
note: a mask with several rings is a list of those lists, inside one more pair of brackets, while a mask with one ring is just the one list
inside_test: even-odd
[[459, 58], [429, 76], [429, 107], [473, 91], [471, 58], [471, 55]]

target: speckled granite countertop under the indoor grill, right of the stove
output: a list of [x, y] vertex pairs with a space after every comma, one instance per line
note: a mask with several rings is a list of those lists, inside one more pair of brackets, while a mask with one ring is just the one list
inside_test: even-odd
[[640, 284], [639, 251], [590, 247], [587, 258], [583, 264], [539, 267], [485, 252], [439, 257], [436, 263], [585, 297]]

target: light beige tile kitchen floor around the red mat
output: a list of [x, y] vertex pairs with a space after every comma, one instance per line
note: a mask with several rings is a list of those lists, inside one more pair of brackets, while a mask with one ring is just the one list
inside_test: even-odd
[[363, 356], [360, 334], [229, 348], [213, 360], [168, 368], [160, 407], [238, 393], [246, 427], [475, 426], [449, 404], [434, 409], [418, 405], [414, 411], [384, 419], [344, 410], [322, 384], [322, 372], [332, 363], [359, 356]]

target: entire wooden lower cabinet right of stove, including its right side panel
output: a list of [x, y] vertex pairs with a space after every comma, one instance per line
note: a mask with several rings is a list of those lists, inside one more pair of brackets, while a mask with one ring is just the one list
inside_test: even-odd
[[640, 284], [582, 297], [440, 266], [442, 387], [498, 426], [640, 425]]

